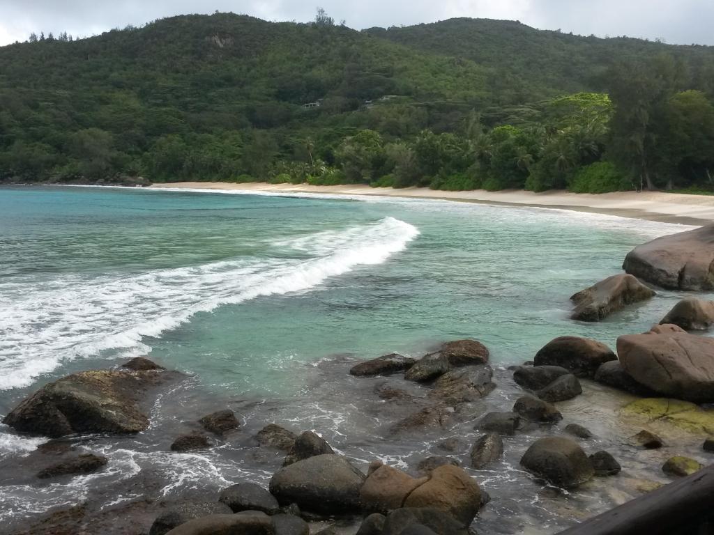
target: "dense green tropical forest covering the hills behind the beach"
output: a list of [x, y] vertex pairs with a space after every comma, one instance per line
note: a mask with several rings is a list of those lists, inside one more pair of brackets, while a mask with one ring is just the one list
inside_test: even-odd
[[714, 190], [714, 48], [216, 13], [0, 48], [0, 180]]

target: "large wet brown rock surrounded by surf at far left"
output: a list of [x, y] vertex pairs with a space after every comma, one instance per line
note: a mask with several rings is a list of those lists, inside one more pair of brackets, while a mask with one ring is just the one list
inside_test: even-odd
[[11, 410], [3, 423], [16, 431], [62, 437], [73, 433], [138, 433], [149, 417], [138, 407], [166, 372], [92, 370], [46, 384]]

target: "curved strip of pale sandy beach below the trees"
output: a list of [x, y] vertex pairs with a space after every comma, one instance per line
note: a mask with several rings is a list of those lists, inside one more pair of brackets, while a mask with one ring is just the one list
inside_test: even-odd
[[265, 191], [270, 193], [328, 193], [332, 195], [381, 195], [385, 197], [455, 200], [465, 203], [526, 205], [606, 213], [627, 218], [665, 223], [702, 225], [714, 220], [714, 195], [685, 195], [658, 191], [623, 191], [591, 195], [568, 191], [438, 191], [429, 188], [371, 188], [368, 185], [308, 185], [226, 182], [176, 182], [154, 184], [153, 188]]

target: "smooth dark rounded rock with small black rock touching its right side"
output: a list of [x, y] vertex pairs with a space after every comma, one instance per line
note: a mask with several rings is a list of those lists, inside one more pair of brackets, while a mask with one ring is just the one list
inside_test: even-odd
[[577, 442], [563, 437], [538, 439], [521, 459], [521, 466], [555, 486], [572, 489], [595, 474], [590, 459]]

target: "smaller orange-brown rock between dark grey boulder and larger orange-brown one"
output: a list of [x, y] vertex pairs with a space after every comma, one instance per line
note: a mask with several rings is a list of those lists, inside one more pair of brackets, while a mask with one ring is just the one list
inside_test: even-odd
[[391, 509], [398, 509], [403, 506], [406, 497], [428, 479], [415, 479], [396, 468], [381, 463], [373, 464], [360, 490], [363, 509], [370, 513], [386, 513]]

